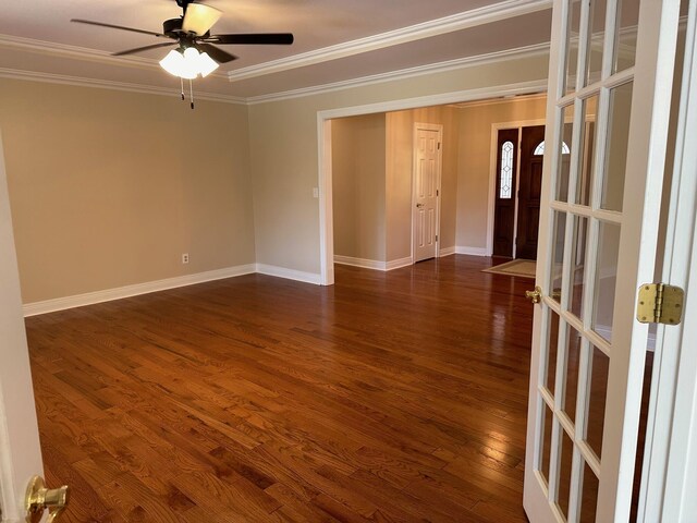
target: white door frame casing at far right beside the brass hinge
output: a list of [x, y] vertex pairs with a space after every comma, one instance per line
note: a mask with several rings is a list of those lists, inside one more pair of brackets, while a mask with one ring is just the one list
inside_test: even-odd
[[661, 281], [685, 290], [683, 321], [659, 326], [637, 521], [697, 514], [697, 5], [690, 4]]

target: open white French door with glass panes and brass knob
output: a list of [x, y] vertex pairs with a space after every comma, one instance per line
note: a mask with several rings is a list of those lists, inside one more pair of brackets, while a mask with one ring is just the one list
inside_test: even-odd
[[524, 487], [531, 523], [629, 516], [648, 338], [635, 307], [653, 279], [678, 4], [554, 1]]

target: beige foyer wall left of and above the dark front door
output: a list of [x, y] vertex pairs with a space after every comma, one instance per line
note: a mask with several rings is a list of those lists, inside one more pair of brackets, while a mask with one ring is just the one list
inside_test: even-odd
[[546, 99], [511, 99], [460, 110], [458, 247], [485, 250], [491, 172], [491, 129], [497, 123], [545, 120]]

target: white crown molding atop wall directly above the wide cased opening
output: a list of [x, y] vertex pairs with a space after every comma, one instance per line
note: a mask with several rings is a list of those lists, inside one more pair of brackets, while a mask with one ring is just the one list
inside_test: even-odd
[[478, 54], [476, 57], [460, 58], [456, 60], [448, 60], [444, 62], [429, 63], [426, 65], [419, 65], [416, 68], [402, 69], [399, 71], [391, 71], [388, 73], [374, 74], [370, 76], [362, 76], [359, 78], [345, 80], [342, 82], [334, 82], [331, 84], [316, 85], [313, 87], [304, 87], [301, 89], [286, 90], [282, 93], [272, 93], [269, 95], [253, 96], [247, 98], [247, 104], [266, 104], [269, 101], [280, 101], [290, 98], [299, 98], [304, 96], [319, 95], [322, 93], [331, 93], [334, 90], [348, 89], [351, 87], [363, 87], [371, 84], [379, 84], [384, 82], [394, 82], [399, 80], [406, 80], [426, 74], [444, 73], [448, 71], [454, 71], [456, 69], [467, 69], [479, 65], [487, 65], [491, 63], [502, 62], [506, 60], [516, 60], [523, 58], [533, 58], [543, 56], [549, 52], [549, 42], [536, 44], [533, 46], [518, 47], [516, 49], [509, 49], [505, 51], [489, 52], [487, 54]]

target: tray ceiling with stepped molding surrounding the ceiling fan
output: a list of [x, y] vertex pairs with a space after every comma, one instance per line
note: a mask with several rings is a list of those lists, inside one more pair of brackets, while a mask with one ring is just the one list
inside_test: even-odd
[[[254, 99], [386, 73], [423, 71], [549, 41], [551, 0], [201, 0], [223, 12], [211, 33], [290, 32], [292, 46], [223, 46], [240, 57], [195, 81], [200, 94]], [[179, 89], [167, 49], [110, 53], [155, 37], [73, 24], [85, 19], [160, 32], [175, 0], [19, 0], [0, 14], [0, 75]]]

